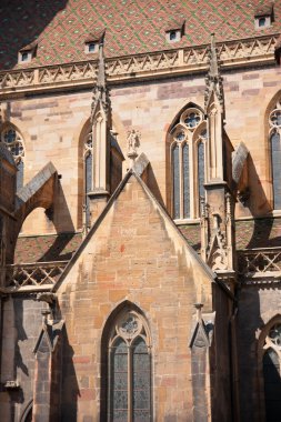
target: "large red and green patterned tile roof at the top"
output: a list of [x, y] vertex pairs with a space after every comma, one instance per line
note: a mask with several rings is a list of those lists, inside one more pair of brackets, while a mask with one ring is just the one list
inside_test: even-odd
[[[217, 41], [279, 33], [281, 1], [274, 22], [254, 29], [254, 13], [270, 0], [1, 0], [0, 69], [40, 67], [94, 59], [84, 52], [89, 34], [107, 29], [106, 57], [144, 53]], [[185, 21], [181, 41], [164, 31]], [[18, 51], [38, 41], [31, 63], [17, 64]]]

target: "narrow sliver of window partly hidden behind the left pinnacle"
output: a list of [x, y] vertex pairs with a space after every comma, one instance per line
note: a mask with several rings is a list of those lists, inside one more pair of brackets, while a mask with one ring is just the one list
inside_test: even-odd
[[83, 173], [84, 173], [84, 209], [86, 227], [90, 228], [90, 199], [88, 193], [92, 191], [93, 182], [93, 142], [92, 133], [88, 133], [83, 149]]

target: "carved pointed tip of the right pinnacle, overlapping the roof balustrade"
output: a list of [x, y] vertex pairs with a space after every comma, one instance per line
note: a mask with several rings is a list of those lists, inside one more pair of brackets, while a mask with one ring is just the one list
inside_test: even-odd
[[212, 99], [212, 94], [214, 94], [224, 111], [222, 77], [220, 76], [219, 70], [214, 33], [211, 34], [211, 46], [209, 47], [208, 56], [210, 68], [208, 76], [205, 77], [204, 109], [207, 111]]

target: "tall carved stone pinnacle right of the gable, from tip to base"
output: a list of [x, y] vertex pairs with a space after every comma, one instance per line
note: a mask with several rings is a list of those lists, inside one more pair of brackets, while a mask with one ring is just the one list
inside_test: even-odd
[[205, 78], [204, 112], [207, 115], [205, 203], [201, 214], [201, 254], [218, 278], [233, 289], [234, 202], [229, 191], [227, 169], [231, 165], [224, 132], [222, 77], [219, 71], [214, 34], [209, 49], [210, 68]]

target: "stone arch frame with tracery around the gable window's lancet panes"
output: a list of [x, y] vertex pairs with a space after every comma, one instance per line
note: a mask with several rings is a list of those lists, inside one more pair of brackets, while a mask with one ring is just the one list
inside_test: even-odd
[[[148, 319], [143, 311], [134, 303], [126, 300], [121, 302], [109, 315], [102, 331], [101, 338], [101, 412], [100, 421], [109, 419], [109, 414], [118, 411], [114, 406], [114, 379], [119, 373], [114, 372], [114, 359], [118, 356], [119, 349], [122, 348], [121, 355], [124, 363], [124, 373], [131, 373], [129, 379], [131, 380], [127, 384], [128, 375], [124, 375], [124, 383], [127, 384], [127, 400], [128, 408], [123, 410], [122, 418], [124, 421], [131, 420], [130, 415], [138, 412], [133, 409], [132, 394], [133, 394], [133, 379], [138, 376], [138, 372], [134, 373], [133, 359], [134, 352], [138, 348], [141, 348], [141, 354], [143, 359], [144, 370], [141, 375], [147, 380], [144, 385], [144, 395], [147, 394], [148, 409], [143, 410], [147, 412], [147, 421], [152, 418], [152, 376], [151, 376], [151, 334], [148, 323]], [[121, 349], [120, 349], [121, 350]], [[137, 352], [138, 353], [138, 352]], [[128, 372], [126, 372], [128, 371]], [[119, 382], [121, 382], [119, 380]]]

